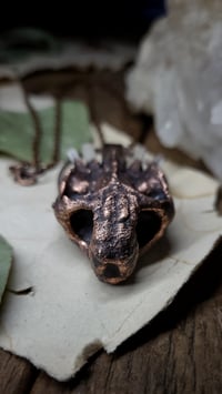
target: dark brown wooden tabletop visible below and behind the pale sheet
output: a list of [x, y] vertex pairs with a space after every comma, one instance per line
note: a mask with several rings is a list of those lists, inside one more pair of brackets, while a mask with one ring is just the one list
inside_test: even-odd
[[[73, 71], [28, 78], [29, 91], [93, 102], [93, 118], [107, 120], [163, 151], [181, 164], [194, 163], [163, 150], [150, 119], [135, 117], [122, 100], [122, 75]], [[28, 361], [0, 350], [0, 393], [119, 394], [222, 393], [222, 240], [171, 306], [111, 355], [95, 354], [78, 375], [59, 383]]]

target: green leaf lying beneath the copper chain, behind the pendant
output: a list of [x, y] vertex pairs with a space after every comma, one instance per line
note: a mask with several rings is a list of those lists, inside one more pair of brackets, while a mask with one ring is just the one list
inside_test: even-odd
[[[54, 149], [56, 107], [37, 111], [42, 128], [40, 160], [51, 162]], [[81, 102], [63, 101], [61, 104], [60, 156], [65, 158], [71, 147], [79, 149], [91, 141], [87, 108]], [[0, 150], [18, 160], [33, 160], [34, 127], [29, 112], [0, 110]]]

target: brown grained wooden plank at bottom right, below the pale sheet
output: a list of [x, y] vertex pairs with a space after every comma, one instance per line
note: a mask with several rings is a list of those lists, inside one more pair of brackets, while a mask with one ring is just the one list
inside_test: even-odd
[[215, 300], [198, 305], [174, 329], [157, 336], [152, 333], [153, 337], [150, 337], [148, 327], [142, 332], [143, 343], [135, 348], [124, 348], [114, 355], [102, 353], [83, 368], [80, 376], [68, 383], [58, 383], [41, 374], [31, 394], [220, 394], [222, 341], [219, 315], [220, 294]]

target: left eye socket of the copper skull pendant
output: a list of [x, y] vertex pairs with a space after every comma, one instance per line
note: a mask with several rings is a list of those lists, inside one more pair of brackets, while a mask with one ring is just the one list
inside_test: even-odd
[[71, 214], [70, 225], [74, 235], [90, 243], [93, 231], [93, 213], [90, 210], [79, 210]]

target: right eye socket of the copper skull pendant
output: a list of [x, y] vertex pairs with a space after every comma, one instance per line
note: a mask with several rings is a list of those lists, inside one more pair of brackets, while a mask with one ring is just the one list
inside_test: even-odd
[[153, 211], [141, 211], [135, 228], [139, 247], [147, 245], [160, 231], [161, 218]]

